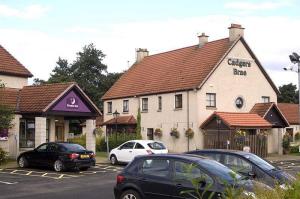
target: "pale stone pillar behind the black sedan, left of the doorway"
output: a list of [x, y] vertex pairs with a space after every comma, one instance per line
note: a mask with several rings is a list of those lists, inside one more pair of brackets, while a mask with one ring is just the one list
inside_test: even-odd
[[35, 147], [46, 142], [46, 118], [35, 118]]

